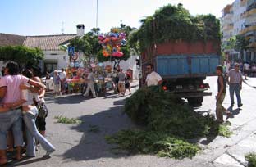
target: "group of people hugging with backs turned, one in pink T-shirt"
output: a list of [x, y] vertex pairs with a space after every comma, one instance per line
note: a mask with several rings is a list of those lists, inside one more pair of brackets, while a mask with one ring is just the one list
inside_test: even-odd
[[[8, 62], [0, 79], [0, 165], [7, 164], [7, 151], [14, 159], [34, 157], [37, 143], [49, 156], [55, 147], [44, 137], [48, 110], [44, 102], [45, 85], [33, 67], [20, 71]], [[25, 134], [25, 135], [24, 135]]]

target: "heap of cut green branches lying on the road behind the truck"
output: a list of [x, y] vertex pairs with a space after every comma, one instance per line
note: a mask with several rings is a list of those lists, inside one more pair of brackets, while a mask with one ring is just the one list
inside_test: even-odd
[[200, 115], [159, 87], [140, 88], [126, 100], [125, 113], [142, 129], [122, 130], [106, 139], [132, 153], [181, 159], [199, 151], [196, 142], [190, 143], [194, 139], [231, 135], [212, 115]]

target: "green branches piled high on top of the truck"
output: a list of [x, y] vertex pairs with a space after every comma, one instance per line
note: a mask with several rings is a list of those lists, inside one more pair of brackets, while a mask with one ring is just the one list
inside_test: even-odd
[[213, 15], [192, 16], [179, 4], [171, 4], [155, 11], [153, 16], [141, 20], [141, 27], [130, 34], [130, 45], [139, 43], [140, 52], [155, 43], [165, 43], [176, 40], [198, 41], [213, 40], [219, 42], [220, 21]]

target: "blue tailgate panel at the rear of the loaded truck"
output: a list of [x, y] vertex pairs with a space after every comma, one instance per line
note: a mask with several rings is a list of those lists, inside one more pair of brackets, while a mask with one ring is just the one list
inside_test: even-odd
[[162, 78], [202, 77], [215, 74], [220, 65], [218, 55], [160, 55], [155, 70]]

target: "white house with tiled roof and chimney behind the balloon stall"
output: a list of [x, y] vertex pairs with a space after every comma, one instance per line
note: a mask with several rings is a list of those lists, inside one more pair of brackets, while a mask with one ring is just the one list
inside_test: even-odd
[[[66, 68], [69, 63], [69, 56], [66, 51], [62, 50], [62, 45], [66, 45], [73, 38], [80, 38], [85, 34], [85, 25], [76, 26], [76, 34], [59, 34], [59, 35], [39, 35], [39, 36], [19, 36], [13, 34], [0, 34], [0, 46], [23, 45], [25, 47], [38, 47], [43, 51], [43, 61], [40, 61], [42, 72], [52, 72]], [[136, 68], [136, 58], [130, 56], [127, 61], [121, 61], [120, 66], [123, 70], [133, 70], [133, 76], [138, 79], [139, 70]], [[112, 65], [111, 62], [105, 65]], [[0, 61], [0, 69], [3, 62]]]

